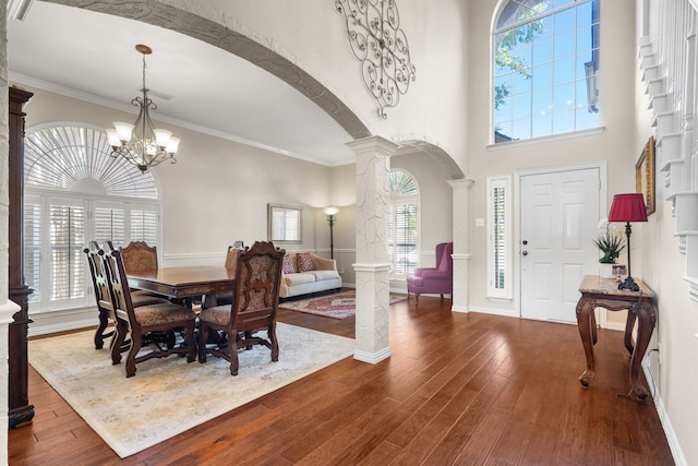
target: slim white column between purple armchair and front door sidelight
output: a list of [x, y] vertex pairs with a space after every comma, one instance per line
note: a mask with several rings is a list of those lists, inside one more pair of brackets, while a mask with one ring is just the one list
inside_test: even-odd
[[470, 188], [474, 180], [446, 181], [454, 191], [454, 295], [452, 311], [469, 312], [470, 307]]

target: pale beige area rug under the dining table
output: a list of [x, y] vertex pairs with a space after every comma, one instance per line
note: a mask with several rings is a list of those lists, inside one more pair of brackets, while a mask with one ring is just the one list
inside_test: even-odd
[[[125, 378], [94, 332], [29, 342], [29, 363], [120, 456], [151, 447], [353, 354], [354, 340], [278, 323], [280, 350], [254, 346], [240, 353], [240, 370], [208, 357], [186, 363], [170, 356], [137, 366]], [[202, 396], [205, 394], [205, 396]]]

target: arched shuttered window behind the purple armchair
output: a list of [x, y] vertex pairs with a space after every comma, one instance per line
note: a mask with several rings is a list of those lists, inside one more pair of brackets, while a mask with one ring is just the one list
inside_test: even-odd
[[390, 171], [388, 228], [390, 275], [405, 279], [414, 272], [419, 258], [419, 188], [407, 171]]

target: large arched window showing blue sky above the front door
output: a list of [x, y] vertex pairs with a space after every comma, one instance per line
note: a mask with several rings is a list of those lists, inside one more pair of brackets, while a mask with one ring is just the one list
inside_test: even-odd
[[495, 143], [599, 126], [600, 0], [509, 0], [493, 32]]

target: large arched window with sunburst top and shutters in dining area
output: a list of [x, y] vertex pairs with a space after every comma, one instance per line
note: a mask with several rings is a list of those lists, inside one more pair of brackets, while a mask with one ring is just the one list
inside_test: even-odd
[[29, 130], [24, 146], [24, 275], [33, 312], [94, 303], [83, 249], [159, 243], [158, 190], [111, 157], [104, 131], [82, 123]]

